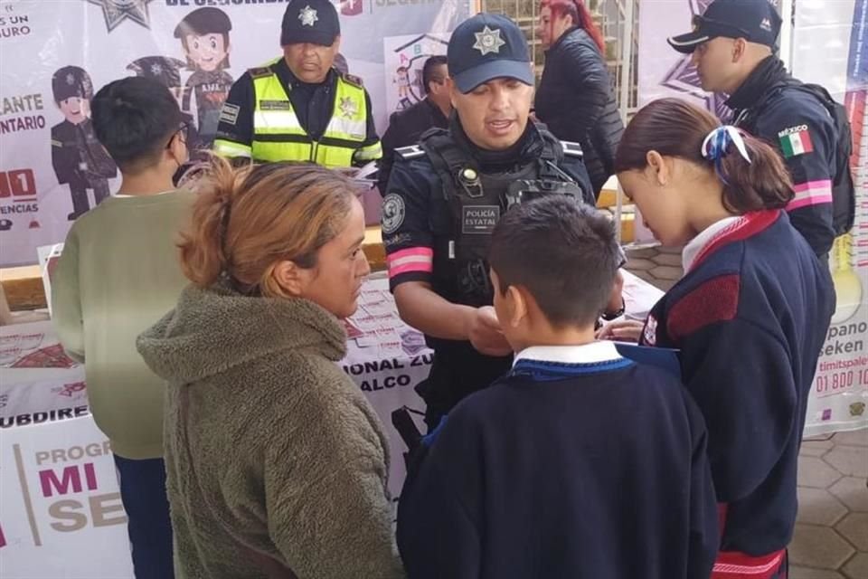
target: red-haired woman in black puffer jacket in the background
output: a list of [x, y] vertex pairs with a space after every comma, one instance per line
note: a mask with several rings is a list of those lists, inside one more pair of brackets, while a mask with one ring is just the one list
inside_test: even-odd
[[606, 68], [606, 45], [584, 0], [542, 0], [539, 34], [545, 69], [536, 118], [555, 137], [580, 143], [594, 194], [614, 174], [624, 132]]

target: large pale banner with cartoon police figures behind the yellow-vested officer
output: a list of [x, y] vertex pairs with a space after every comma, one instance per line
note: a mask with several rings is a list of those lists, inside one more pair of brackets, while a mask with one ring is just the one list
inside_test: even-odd
[[[439, 53], [431, 51], [467, 18], [469, 0], [333, 1], [342, 32], [335, 66], [363, 80], [382, 134], [389, 113], [420, 96], [413, 56]], [[117, 167], [90, 123], [96, 90], [131, 75], [163, 82], [196, 129], [194, 147], [209, 147], [232, 82], [282, 54], [286, 5], [0, 0], [0, 266], [34, 263], [38, 246], [62, 242], [72, 219], [117, 189]], [[414, 40], [426, 33], [437, 43]], [[384, 65], [385, 42], [396, 37], [422, 51], [401, 52], [400, 73]]]

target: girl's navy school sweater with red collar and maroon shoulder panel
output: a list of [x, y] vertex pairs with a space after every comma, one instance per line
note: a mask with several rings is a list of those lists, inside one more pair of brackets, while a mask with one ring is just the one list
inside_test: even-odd
[[693, 249], [642, 341], [681, 350], [708, 426], [722, 525], [712, 576], [764, 579], [793, 534], [807, 395], [835, 290], [780, 211], [745, 215]]

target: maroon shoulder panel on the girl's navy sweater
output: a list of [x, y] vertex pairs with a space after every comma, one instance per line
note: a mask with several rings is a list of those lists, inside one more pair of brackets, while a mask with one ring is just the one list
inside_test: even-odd
[[715, 322], [735, 318], [740, 290], [741, 278], [735, 273], [703, 282], [669, 308], [666, 332], [680, 340]]

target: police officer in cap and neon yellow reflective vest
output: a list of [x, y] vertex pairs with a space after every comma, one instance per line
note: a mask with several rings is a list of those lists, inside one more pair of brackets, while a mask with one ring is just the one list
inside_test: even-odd
[[232, 85], [214, 152], [254, 161], [363, 166], [382, 156], [362, 81], [333, 64], [341, 26], [329, 0], [293, 0], [283, 15], [283, 58]]

